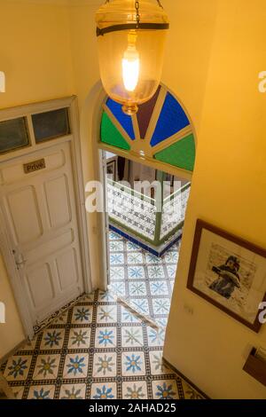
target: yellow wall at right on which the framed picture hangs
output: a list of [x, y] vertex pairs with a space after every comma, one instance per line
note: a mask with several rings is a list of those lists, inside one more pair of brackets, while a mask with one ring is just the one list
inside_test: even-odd
[[[242, 371], [259, 334], [186, 289], [197, 218], [266, 247], [266, 65], [264, 0], [219, 0], [197, 161], [164, 356], [214, 398], [266, 398]], [[184, 304], [192, 307], [186, 313]]]

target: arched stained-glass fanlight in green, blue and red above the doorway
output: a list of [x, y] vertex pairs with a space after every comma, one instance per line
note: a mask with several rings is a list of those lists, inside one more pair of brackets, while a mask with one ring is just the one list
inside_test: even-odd
[[103, 105], [100, 142], [115, 153], [141, 155], [192, 172], [195, 138], [192, 122], [176, 97], [160, 85], [137, 114], [126, 115], [121, 105], [107, 98]]

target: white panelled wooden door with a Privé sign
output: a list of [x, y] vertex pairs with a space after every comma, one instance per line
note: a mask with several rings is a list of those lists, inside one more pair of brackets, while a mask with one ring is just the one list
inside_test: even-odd
[[1, 163], [0, 204], [36, 325], [83, 293], [70, 144]]

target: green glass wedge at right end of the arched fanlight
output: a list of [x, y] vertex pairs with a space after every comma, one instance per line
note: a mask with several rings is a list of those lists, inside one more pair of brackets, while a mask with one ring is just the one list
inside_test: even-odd
[[191, 134], [184, 139], [178, 140], [175, 144], [168, 146], [154, 155], [158, 161], [174, 165], [175, 167], [192, 171], [195, 163], [195, 141]]

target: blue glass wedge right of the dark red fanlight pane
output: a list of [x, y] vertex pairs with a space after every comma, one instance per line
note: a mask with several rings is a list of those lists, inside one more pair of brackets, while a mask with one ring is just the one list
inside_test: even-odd
[[162, 106], [157, 126], [153, 132], [151, 145], [160, 144], [163, 140], [175, 135], [190, 124], [183, 108], [170, 93]]

